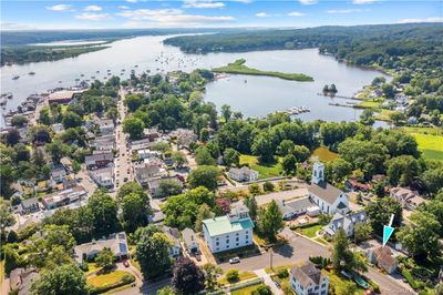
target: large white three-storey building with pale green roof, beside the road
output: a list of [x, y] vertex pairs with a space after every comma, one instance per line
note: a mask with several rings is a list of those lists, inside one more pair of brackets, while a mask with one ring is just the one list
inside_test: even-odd
[[226, 216], [203, 221], [203, 235], [213, 253], [253, 244], [254, 223], [249, 210], [239, 204]]

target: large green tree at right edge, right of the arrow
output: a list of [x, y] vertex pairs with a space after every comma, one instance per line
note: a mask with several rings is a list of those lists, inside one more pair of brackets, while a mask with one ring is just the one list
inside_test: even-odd
[[435, 215], [427, 212], [412, 214], [406, 225], [396, 234], [401, 243], [414, 257], [436, 257], [442, 225]]

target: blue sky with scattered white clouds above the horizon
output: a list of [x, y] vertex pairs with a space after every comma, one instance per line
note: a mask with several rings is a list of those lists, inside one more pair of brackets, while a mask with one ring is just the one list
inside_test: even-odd
[[1, 0], [2, 30], [442, 22], [443, 0]]

